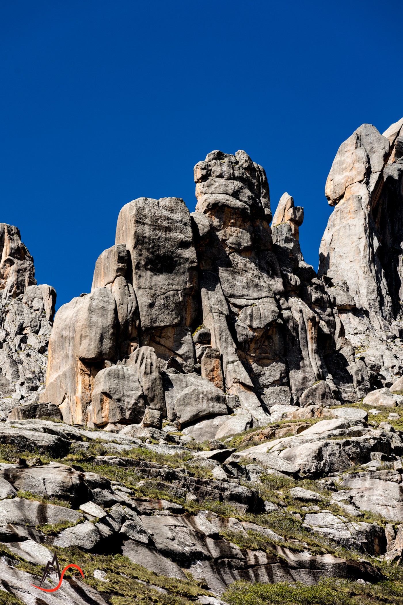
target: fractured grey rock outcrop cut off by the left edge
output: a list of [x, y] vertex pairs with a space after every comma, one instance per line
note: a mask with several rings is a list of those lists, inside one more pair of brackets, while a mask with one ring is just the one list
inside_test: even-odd
[[44, 389], [56, 292], [37, 286], [17, 227], [0, 223], [0, 419]]

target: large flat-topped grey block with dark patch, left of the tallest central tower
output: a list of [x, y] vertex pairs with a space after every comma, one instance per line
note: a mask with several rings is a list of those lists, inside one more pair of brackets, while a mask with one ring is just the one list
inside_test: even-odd
[[143, 197], [126, 204], [118, 217], [116, 244], [126, 244], [131, 258], [143, 330], [192, 324], [196, 253], [184, 201]]

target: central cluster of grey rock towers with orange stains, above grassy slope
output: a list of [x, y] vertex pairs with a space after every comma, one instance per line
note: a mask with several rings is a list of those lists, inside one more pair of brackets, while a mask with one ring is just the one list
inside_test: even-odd
[[265, 171], [244, 151], [211, 152], [195, 182], [192, 214], [178, 198], [121, 210], [91, 293], [57, 312], [41, 401], [71, 424], [120, 430], [146, 408], [185, 427], [240, 407], [265, 425], [273, 405], [365, 395], [301, 255], [303, 209], [284, 194], [271, 229]]

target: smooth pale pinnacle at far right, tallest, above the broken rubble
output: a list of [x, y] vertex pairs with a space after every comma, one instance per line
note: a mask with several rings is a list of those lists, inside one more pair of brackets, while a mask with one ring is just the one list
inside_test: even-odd
[[345, 284], [359, 309], [388, 322], [399, 318], [403, 299], [402, 128], [403, 119], [381, 135], [363, 124], [338, 149], [325, 188], [335, 209], [318, 270]]

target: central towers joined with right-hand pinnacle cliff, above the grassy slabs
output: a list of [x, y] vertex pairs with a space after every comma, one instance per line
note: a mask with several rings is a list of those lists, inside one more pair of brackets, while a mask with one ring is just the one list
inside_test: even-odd
[[318, 275], [300, 250], [303, 209], [283, 194], [270, 226], [265, 171], [244, 151], [195, 166], [191, 214], [179, 198], [126, 204], [91, 293], [56, 315], [40, 401], [115, 431], [150, 408], [213, 438], [234, 410], [265, 425], [281, 406], [390, 387], [403, 371], [402, 126], [363, 125], [341, 145]]

